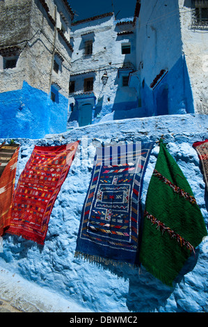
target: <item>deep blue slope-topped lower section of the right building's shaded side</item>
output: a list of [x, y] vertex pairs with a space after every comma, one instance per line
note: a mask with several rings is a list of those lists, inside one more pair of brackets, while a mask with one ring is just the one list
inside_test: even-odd
[[141, 95], [142, 105], [147, 108], [149, 117], [194, 113], [193, 94], [185, 56], [181, 56], [154, 87], [147, 86], [143, 79]]

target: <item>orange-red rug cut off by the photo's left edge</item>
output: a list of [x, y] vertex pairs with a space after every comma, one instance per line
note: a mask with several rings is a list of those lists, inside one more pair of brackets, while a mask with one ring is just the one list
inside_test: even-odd
[[19, 145], [0, 147], [0, 236], [10, 225]]

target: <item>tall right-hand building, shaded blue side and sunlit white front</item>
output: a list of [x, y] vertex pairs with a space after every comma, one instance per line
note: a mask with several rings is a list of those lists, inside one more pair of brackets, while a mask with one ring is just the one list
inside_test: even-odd
[[136, 76], [147, 116], [208, 113], [208, 1], [137, 1]]

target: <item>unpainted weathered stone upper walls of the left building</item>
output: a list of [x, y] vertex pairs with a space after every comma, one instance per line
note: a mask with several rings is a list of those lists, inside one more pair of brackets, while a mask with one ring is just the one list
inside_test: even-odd
[[[59, 93], [68, 96], [72, 49], [67, 42], [70, 42], [71, 17], [61, 1], [58, 2], [57, 13], [54, 0], [47, 0], [49, 11], [42, 5], [44, 2], [6, 0], [0, 3], [0, 47], [19, 47], [16, 67], [0, 67], [1, 92], [18, 90], [26, 81], [48, 94], [51, 83], [55, 83]], [[67, 19], [67, 31], [64, 34], [67, 42], [56, 29], [56, 26], [61, 29], [61, 10]], [[54, 56], [60, 63], [58, 72], [53, 69]]]

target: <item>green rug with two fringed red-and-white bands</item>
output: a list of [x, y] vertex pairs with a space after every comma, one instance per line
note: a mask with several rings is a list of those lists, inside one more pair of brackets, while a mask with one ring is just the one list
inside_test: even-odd
[[160, 141], [147, 190], [140, 262], [166, 285], [173, 280], [207, 235], [191, 186]]

